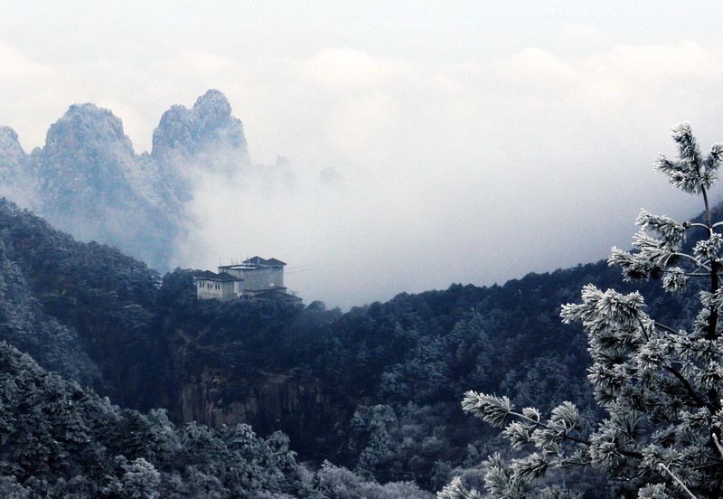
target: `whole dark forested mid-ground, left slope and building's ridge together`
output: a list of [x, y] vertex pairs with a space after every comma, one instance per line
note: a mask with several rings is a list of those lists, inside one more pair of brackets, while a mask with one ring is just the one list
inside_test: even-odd
[[[680, 308], [671, 304], [692, 297], [624, 284], [598, 262], [503, 286], [401, 294], [346, 314], [318, 303], [199, 301], [192, 271], [159, 287], [145, 264], [72, 240], [12, 203], [0, 203], [0, 227], [11, 289], [0, 293], [0, 339], [71, 376], [80, 373], [65, 362], [89, 359], [84, 372], [98, 366], [96, 386], [123, 405], [164, 407], [177, 422], [282, 429], [304, 459], [430, 488], [500, 448], [462, 414], [466, 390], [543, 409], [577, 400], [594, 416], [586, 339], [559, 323], [560, 304], [577, 301], [583, 285], [642, 288], [652, 315], [673, 327], [685, 318], [667, 316]], [[53, 321], [62, 334], [37, 335], [36, 324]]]

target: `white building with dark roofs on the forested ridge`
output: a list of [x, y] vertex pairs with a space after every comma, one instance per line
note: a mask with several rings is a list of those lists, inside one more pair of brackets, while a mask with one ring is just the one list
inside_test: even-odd
[[218, 274], [206, 270], [194, 278], [196, 296], [222, 301], [246, 297], [300, 303], [301, 298], [289, 293], [284, 286], [285, 266], [279, 259], [253, 257], [239, 264], [222, 265]]

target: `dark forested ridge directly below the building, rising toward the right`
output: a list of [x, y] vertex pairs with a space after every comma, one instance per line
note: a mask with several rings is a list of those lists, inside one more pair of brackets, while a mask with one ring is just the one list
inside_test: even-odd
[[591, 282], [642, 289], [672, 326], [685, 319], [669, 316], [679, 309], [672, 304], [695, 295], [624, 283], [601, 261], [503, 286], [402, 294], [340, 315], [318, 304], [290, 312], [197, 302], [190, 275], [176, 272], [161, 290], [171, 304], [163, 334], [175, 359], [172, 414], [282, 428], [304, 457], [434, 489], [452, 467], [504, 448], [462, 413], [467, 390], [505, 393], [520, 407], [576, 400], [595, 417], [587, 338], [559, 321], [559, 306]]

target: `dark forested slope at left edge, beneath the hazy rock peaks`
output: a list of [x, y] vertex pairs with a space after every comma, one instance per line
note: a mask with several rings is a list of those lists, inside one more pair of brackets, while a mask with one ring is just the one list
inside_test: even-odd
[[146, 390], [160, 382], [163, 369], [152, 322], [158, 275], [118, 250], [73, 240], [5, 200], [0, 227], [0, 339], [124, 405], [152, 407], [148, 399], [159, 394]]

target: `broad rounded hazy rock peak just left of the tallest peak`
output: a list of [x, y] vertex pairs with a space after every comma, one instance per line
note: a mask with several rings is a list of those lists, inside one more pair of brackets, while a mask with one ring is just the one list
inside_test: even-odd
[[70, 106], [31, 161], [39, 212], [55, 226], [163, 268], [177, 233], [176, 207], [154, 193], [157, 175], [142, 167], [113, 113], [93, 104]]

